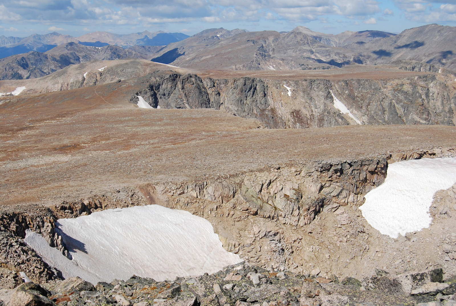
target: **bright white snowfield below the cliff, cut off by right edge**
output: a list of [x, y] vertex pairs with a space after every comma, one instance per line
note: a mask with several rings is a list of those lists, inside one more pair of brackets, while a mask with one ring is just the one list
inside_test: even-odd
[[456, 158], [395, 162], [388, 166], [385, 182], [364, 196], [359, 209], [373, 228], [395, 239], [428, 228], [435, 192], [455, 182]]

